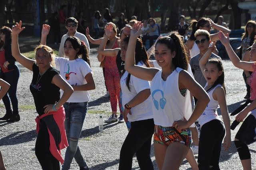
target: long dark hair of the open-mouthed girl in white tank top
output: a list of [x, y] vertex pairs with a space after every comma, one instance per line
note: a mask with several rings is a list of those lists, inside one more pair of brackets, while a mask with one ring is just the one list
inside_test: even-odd
[[222, 74], [217, 78], [217, 80], [214, 82], [214, 84], [206, 90], [206, 92], [210, 92], [214, 87], [216, 87], [218, 84], [222, 85], [224, 88], [225, 94], [226, 94], [226, 88], [224, 84], [224, 68], [221, 60], [218, 58], [211, 58], [208, 63], [216, 64], [218, 71], [222, 71]]

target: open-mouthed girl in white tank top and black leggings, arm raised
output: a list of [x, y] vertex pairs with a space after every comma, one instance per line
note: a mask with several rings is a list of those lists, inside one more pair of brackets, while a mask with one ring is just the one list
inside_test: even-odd
[[[199, 61], [199, 66], [207, 81], [204, 89], [210, 96], [210, 102], [198, 118], [201, 129], [198, 150], [199, 170], [206, 170], [209, 169], [209, 167], [214, 170], [220, 169], [220, 150], [222, 140], [225, 135], [225, 129], [226, 136], [224, 138], [224, 150], [228, 150], [231, 144], [230, 119], [226, 104], [223, 65], [221, 60], [218, 58], [212, 58], [209, 60], [215, 48], [214, 43], [209, 47], [208, 51]], [[217, 113], [219, 105], [224, 124]]]

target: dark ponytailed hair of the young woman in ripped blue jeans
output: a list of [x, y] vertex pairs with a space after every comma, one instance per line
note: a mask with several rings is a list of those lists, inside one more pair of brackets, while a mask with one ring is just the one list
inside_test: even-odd
[[[91, 66], [88, 49], [87, 49], [86, 45], [84, 44], [84, 42], [79, 40], [75, 36], [68, 37], [66, 39], [66, 41], [71, 42], [71, 44], [75, 50], [77, 48], [79, 49], [79, 51], [76, 54], [76, 58], [82, 58], [84, 61], [86, 61], [89, 64], [89, 66]], [[66, 41], [64, 44], [66, 44]]]

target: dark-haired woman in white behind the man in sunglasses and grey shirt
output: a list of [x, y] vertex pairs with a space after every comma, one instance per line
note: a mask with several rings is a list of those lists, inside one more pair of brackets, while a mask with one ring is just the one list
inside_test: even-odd
[[[195, 43], [196, 37], [194, 36], [194, 34], [196, 30], [201, 29], [210, 32], [211, 28], [214, 28], [216, 30], [230, 34], [230, 30], [228, 28], [215, 24], [210, 18], [202, 17], [198, 21], [192, 20], [190, 27], [192, 27], [191, 36], [188, 38], [188, 41], [185, 44], [189, 60], [200, 52], [198, 46]], [[219, 40], [218, 33], [210, 34], [210, 39], [212, 40], [212, 42]], [[214, 53], [218, 55], [218, 51], [216, 49]]]

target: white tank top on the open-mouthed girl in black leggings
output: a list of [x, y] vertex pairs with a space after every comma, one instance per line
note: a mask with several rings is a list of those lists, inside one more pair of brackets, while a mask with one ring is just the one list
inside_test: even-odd
[[[208, 85], [208, 83], [206, 83], [205, 87], [207, 85]], [[217, 100], [214, 100], [214, 98], [212, 96], [214, 90], [217, 87], [221, 87], [221, 85], [218, 84], [212, 90], [210, 90], [210, 92], [208, 92], [208, 95], [210, 97], [210, 102], [206, 106], [203, 114], [201, 114], [201, 116], [198, 118], [198, 122], [200, 124], [200, 128], [202, 128], [202, 126], [204, 124], [206, 124], [207, 122], [210, 122], [211, 120], [214, 120], [214, 119], [220, 120], [220, 118], [218, 116], [218, 113], [217, 113], [217, 108], [218, 108], [219, 102]]]

